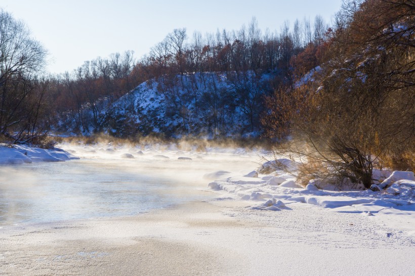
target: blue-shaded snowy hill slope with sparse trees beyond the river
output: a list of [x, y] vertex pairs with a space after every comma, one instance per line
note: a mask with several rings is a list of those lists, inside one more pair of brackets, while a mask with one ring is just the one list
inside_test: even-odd
[[269, 78], [252, 72], [206, 72], [151, 79], [108, 109], [101, 130], [115, 136], [259, 135]]

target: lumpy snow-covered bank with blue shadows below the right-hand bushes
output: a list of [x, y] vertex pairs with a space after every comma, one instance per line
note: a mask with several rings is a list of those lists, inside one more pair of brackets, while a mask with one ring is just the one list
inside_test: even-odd
[[[318, 186], [325, 188], [318, 189], [313, 185], [318, 182], [315, 179], [304, 189], [292, 175], [295, 174], [295, 165], [283, 159], [268, 161], [260, 167], [258, 178], [246, 177], [247, 175], [236, 172], [212, 173], [211, 176], [217, 178], [208, 187], [220, 193], [228, 193], [234, 199], [256, 202], [251, 207], [253, 210], [278, 211], [287, 204], [304, 203], [338, 213], [362, 214], [399, 233], [415, 236], [413, 172], [376, 171], [379, 179], [385, 178], [380, 186], [389, 187], [386, 190], [380, 187], [380, 192], [361, 190], [361, 187], [350, 191], [336, 191], [331, 186]], [[292, 171], [287, 174], [281, 167]]]

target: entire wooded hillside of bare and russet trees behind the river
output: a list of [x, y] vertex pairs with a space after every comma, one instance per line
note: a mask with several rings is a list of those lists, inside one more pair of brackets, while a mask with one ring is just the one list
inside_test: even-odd
[[255, 18], [204, 36], [178, 28], [140, 59], [116, 53], [60, 75], [0, 10], [0, 140], [261, 136], [278, 141], [276, 155], [308, 160], [304, 175], [367, 187], [374, 166], [414, 168], [414, 10], [410, 0], [345, 0], [331, 26], [316, 16], [278, 34]]

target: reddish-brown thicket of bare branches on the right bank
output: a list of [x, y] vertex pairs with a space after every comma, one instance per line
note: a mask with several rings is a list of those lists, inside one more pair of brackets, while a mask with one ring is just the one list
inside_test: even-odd
[[369, 188], [374, 167], [415, 168], [414, 10], [412, 1], [345, 1], [313, 81], [269, 98], [267, 134], [291, 136], [275, 154], [299, 161], [299, 177]]

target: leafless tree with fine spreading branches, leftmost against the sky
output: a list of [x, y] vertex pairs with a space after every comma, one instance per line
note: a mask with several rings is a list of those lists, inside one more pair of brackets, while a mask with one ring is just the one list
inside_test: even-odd
[[15, 143], [27, 127], [32, 80], [45, 65], [46, 55], [23, 22], [0, 10], [0, 134]]

